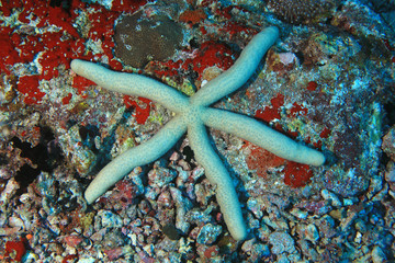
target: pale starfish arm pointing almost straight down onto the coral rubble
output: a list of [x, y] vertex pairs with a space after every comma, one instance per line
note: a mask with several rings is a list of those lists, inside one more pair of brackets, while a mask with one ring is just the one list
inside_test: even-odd
[[229, 173], [210, 144], [204, 125], [201, 122], [190, 124], [188, 138], [196, 161], [202, 164], [208, 181], [216, 187], [216, 198], [232, 237], [236, 240], [245, 239], [247, 230], [235, 187]]

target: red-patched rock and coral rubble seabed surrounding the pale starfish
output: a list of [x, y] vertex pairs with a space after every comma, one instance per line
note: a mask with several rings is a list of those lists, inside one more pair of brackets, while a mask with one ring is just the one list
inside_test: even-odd
[[[0, 261], [394, 261], [394, 33], [377, 3], [330, 1], [318, 12], [314, 1], [292, 1], [296, 12], [273, 2], [1, 0]], [[145, 37], [116, 52], [116, 25], [132, 14], [144, 26], [120, 39], [142, 28]], [[180, 31], [160, 49], [154, 44], [162, 44], [163, 25]], [[98, 171], [172, 113], [76, 76], [71, 59], [149, 76], [190, 95], [269, 25], [281, 36], [248, 89], [214, 106], [319, 149], [328, 163], [285, 161], [212, 130], [242, 205], [245, 241], [229, 236], [184, 138], [86, 204]], [[124, 64], [122, 53], [140, 47], [139, 68]]]

